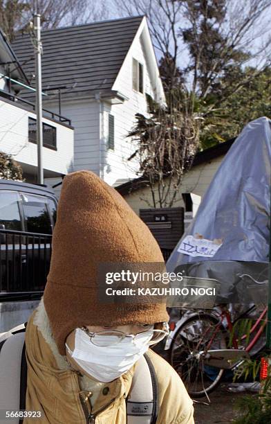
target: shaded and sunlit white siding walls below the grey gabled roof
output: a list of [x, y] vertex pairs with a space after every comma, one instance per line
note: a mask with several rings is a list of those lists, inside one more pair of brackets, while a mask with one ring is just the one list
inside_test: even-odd
[[[146, 53], [142, 45], [142, 39], [137, 36], [112, 87], [129, 100], [120, 105], [87, 99], [62, 100], [62, 115], [70, 118], [75, 128], [74, 170], [92, 170], [109, 184], [117, 179], [136, 177], [138, 169], [135, 161], [127, 163], [127, 157], [136, 148], [131, 139], [127, 139], [127, 134], [136, 123], [136, 113], [147, 114], [147, 102], [144, 94], [132, 88], [133, 58], [143, 64], [144, 89], [153, 96]], [[44, 105], [49, 110], [58, 111], [57, 100], [50, 102], [44, 99]], [[109, 113], [115, 118], [114, 150], [106, 147]]]

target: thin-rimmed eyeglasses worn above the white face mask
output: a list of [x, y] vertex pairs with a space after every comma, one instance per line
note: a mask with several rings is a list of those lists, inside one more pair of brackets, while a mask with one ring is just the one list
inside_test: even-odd
[[126, 334], [119, 330], [102, 330], [91, 333], [85, 326], [80, 327], [80, 329], [88, 335], [91, 343], [100, 347], [114, 346], [128, 337], [133, 339], [133, 342], [136, 344], [136, 342], [140, 342], [141, 339], [145, 339], [147, 335], [149, 335], [149, 341], [147, 344], [151, 346], [159, 343], [166, 335], [169, 334], [169, 326], [167, 323], [164, 323], [162, 330], [151, 328], [149, 330], [140, 331], [140, 333], [136, 334]]

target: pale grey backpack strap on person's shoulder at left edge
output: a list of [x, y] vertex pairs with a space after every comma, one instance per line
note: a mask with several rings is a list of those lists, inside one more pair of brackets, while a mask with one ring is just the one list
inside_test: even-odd
[[26, 408], [26, 324], [7, 332], [8, 337], [0, 343], [0, 409]]

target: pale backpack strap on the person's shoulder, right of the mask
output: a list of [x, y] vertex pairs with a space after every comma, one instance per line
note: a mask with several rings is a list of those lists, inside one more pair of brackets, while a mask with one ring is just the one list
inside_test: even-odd
[[136, 364], [131, 390], [127, 397], [127, 424], [156, 424], [157, 417], [156, 371], [145, 353]]

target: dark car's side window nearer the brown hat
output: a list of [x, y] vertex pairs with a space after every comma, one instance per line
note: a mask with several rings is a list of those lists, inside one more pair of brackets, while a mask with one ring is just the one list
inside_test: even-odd
[[46, 205], [47, 199], [28, 193], [21, 193], [21, 197], [26, 231], [30, 233], [51, 234], [52, 225]]

